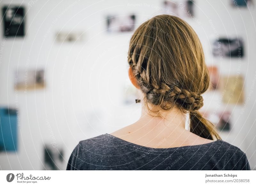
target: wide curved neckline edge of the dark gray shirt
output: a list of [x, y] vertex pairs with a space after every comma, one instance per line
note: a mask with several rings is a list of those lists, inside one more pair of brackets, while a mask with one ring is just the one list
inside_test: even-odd
[[222, 140], [218, 139], [218, 140], [215, 140], [213, 142], [210, 142], [210, 143], [204, 143], [204, 144], [198, 144], [198, 145], [187, 145], [187, 146], [181, 146], [181, 147], [170, 147], [170, 148], [153, 148], [153, 147], [146, 147], [146, 146], [142, 146], [142, 145], [139, 145], [139, 144], [136, 144], [136, 143], [132, 143], [132, 142], [128, 142], [128, 141], [125, 141], [119, 137], [116, 137], [116, 136], [113, 136], [111, 134], [108, 134], [106, 133], [105, 135], [107, 136], [111, 136], [111, 137], [114, 137], [120, 141], [123, 141], [125, 142], [126, 144], [128, 145], [131, 145], [131, 146], [136, 146], [136, 147], [139, 147], [139, 148], [143, 148], [143, 149], [150, 149], [150, 150], [153, 150], [153, 151], [168, 151], [168, 150], [174, 150], [174, 149], [182, 149], [182, 148], [193, 148], [193, 147], [202, 147], [202, 146], [207, 146], [209, 144], [212, 144], [212, 143], [215, 143], [215, 142], [220, 142]]

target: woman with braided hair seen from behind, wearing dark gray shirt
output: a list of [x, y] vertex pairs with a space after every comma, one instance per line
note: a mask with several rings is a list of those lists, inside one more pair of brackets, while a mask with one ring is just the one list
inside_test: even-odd
[[222, 141], [198, 111], [210, 78], [198, 36], [184, 20], [158, 15], [140, 25], [128, 62], [143, 94], [140, 119], [80, 141], [67, 170], [250, 170], [245, 153]]

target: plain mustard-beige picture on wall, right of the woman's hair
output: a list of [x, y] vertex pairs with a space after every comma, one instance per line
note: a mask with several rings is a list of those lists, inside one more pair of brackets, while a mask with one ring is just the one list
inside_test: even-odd
[[222, 102], [225, 104], [244, 103], [244, 77], [241, 75], [222, 76], [220, 80]]

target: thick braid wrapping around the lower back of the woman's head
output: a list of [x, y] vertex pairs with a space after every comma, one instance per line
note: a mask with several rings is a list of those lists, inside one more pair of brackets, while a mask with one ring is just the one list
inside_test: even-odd
[[179, 88], [175, 83], [168, 85], [163, 82], [158, 84], [153, 80], [150, 82], [146, 76], [146, 70], [140, 72], [141, 68], [138, 68], [138, 65], [133, 63], [130, 55], [128, 55], [128, 63], [132, 67], [133, 74], [136, 76], [141, 90], [146, 94], [146, 101], [149, 103], [160, 105], [164, 110], [170, 110], [173, 105], [166, 107], [166, 102], [172, 101], [180, 109], [190, 112], [195, 112], [204, 105], [204, 99], [201, 95]]

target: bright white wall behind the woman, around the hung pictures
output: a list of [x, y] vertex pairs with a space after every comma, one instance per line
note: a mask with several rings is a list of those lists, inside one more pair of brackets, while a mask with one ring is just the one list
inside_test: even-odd
[[[138, 27], [152, 16], [165, 13], [157, 10], [163, 8], [162, 1], [34, 1], [32, 7], [27, 0], [15, 2], [26, 7], [27, 35], [24, 39], [7, 38], [4, 43], [0, 105], [19, 106], [19, 150], [17, 153], [1, 152], [0, 169], [42, 169], [43, 143], [63, 145], [67, 161], [80, 140], [110, 133], [139, 118], [140, 105], [124, 107], [121, 103], [122, 86], [129, 84], [126, 59], [131, 33], [107, 33], [105, 19], [108, 14], [135, 13]], [[240, 71], [246, 78], [244, 91], [248, 97], [254, 89], [252, 80], [256, 74], [255, 7], [238, 11], [229, 0], [195, 2], [196, 18], [201, 24], [191, 19], [186, 21], [201, 39], [207, 64], [219, 66], [221, 74], [236, 74], [239, 65], [237, 59], [220, 61], [212, 57], [210, 43], [215, 36], [210, 19], [220, 36], [242, 36], [244, 39], [245, 58]], [[133, 6], [133, 3], [142, 4]], [[1, 1], [1, 6], [6, 4], [8, 0]], [[55, 35], [60, 30], [83, 31], [85, 42], [56, 43]], [[45, 68], [46, 88], [19, 92], [16, 103], [15, 71], [25, 69], [26, 63], [32, 69]], [[245, 151], [251, 168], [256, 166], [254, 92], [247, 105], [228, 106], [234, 128], [222, 135], [224, 140]], [[218, 92], [204, 97], [206, 108], [226, 107], [216, 104], [220, 99]], [[242, 107], [246, 112], [241, 113]]]

